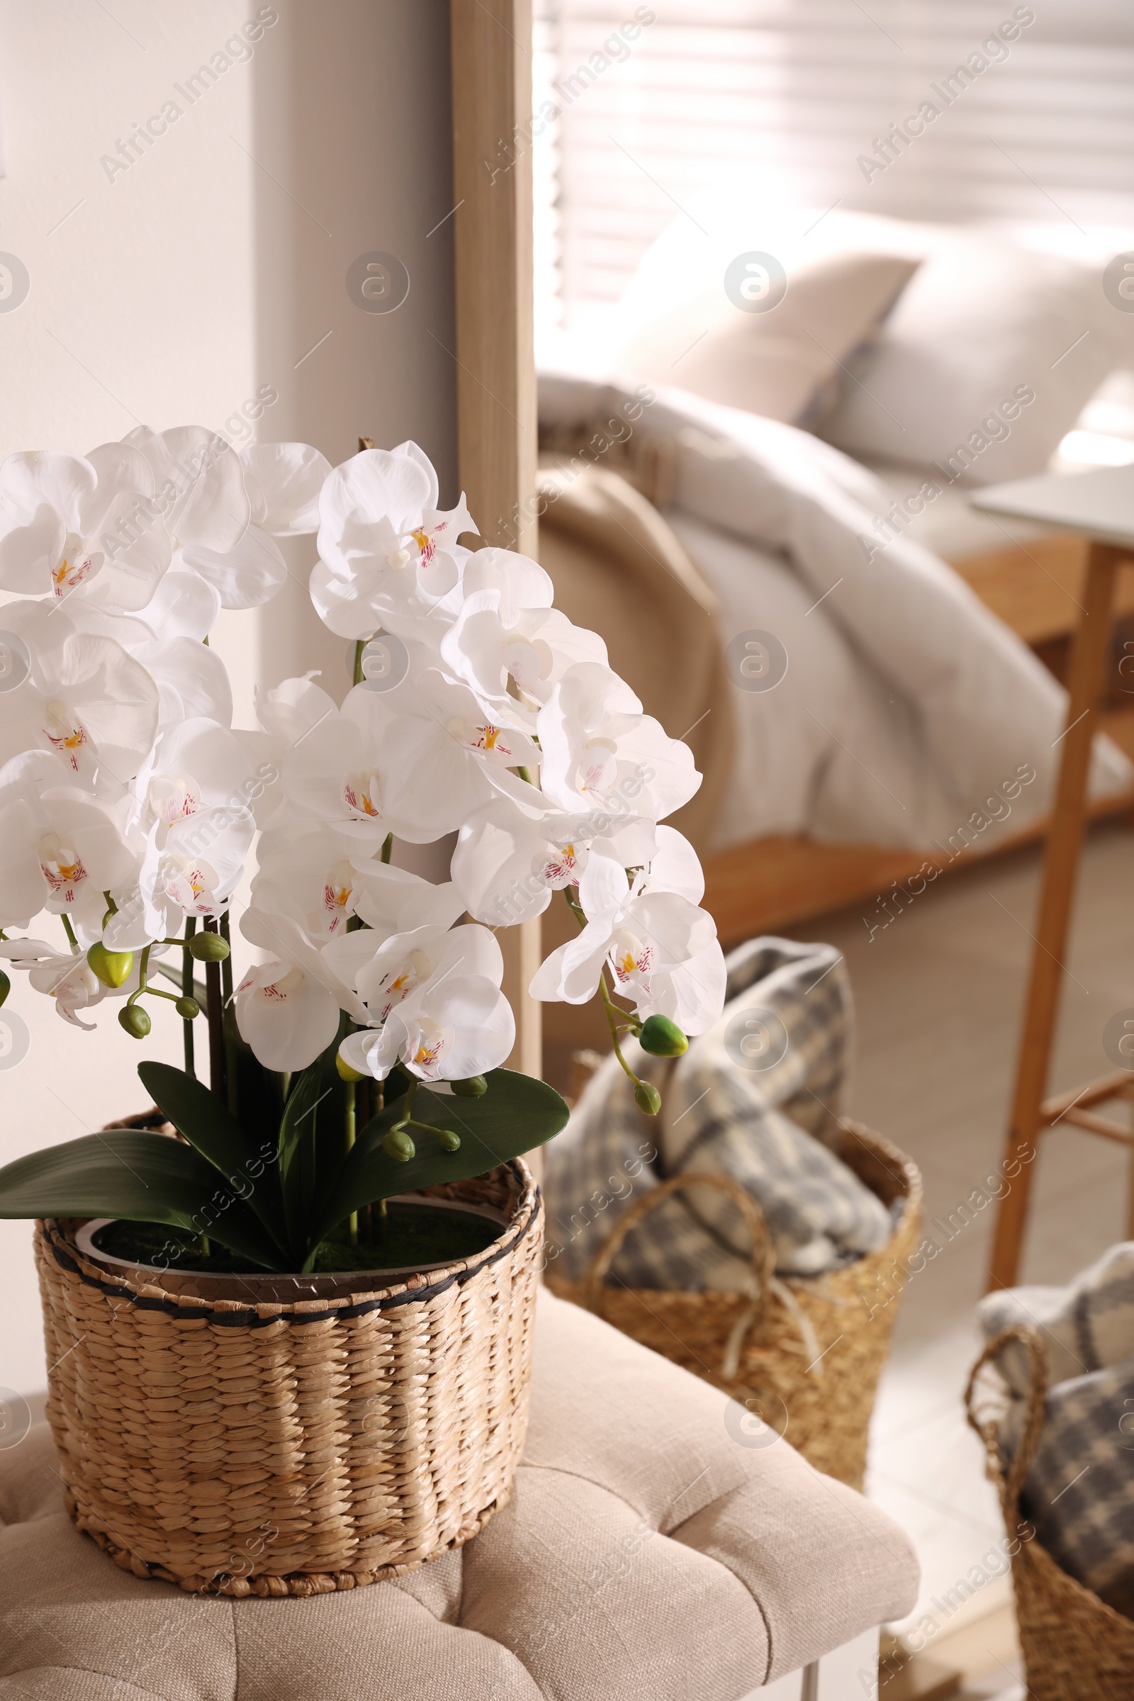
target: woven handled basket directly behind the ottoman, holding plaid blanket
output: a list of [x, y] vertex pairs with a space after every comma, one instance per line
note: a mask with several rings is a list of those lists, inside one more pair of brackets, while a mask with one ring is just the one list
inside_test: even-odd
[[[842, 1123], [840, 1157], [884, 1204], [903, 1198], [879, 1252], [813, 1277], [774, 1277], [772, 1242], [757, 1201], [726, 1175], [672, 1175], [619, 1218], [581, 1281], [549, 1276], [564, 1300], [746, 1403], [816, 1470], [862, 1487], [867, 1429], [918, 1235], [916, 1165], [859, 1123]], [[629, 1230], [672, 1192], [717, 1187], [743, 1213], [753, 1242], [755, 1293], [678, 1293], [610, 1286], [605, 1276]]]

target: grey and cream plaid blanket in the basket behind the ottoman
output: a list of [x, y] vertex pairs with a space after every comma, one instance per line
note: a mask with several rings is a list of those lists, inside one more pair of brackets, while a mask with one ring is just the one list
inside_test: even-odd
[[[831, 946], [767, 937], [733, 951], [724, 1012], [682, 1058], [624, 1048], [661, 1090], [661, 1116], [643, 1118], [610, 1056], [546, 1148], [549, 1267], [578, 1281], [634, 1192], [677, 1172], [746, 1187], [782, 1274], [819, 1274], [882, 1247], [891, 1215], [828, 1145], [850, 1036], [850, 983]], [[636, 1225], [612, 1269], [632, 1288], [745, 1293], [750, 1237], [728, 1198], [692, 1189]]]

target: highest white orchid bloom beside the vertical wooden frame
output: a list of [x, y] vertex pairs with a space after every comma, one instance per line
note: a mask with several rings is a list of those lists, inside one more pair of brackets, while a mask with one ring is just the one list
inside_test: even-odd
[[457, 538], [476, 526], [464, 497], [442, 510], [437, 495], [437, 473], [413, 442], [364, 449], [330, 475], [311, 600], [340, 638], [417, 634], [457, 589], [468, 558]]

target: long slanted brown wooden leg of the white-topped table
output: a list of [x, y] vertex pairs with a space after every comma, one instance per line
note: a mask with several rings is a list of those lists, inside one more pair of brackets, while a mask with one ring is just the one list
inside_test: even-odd
[[1068, 944], [1074, 874], [1083, 842], [1086, 776], [1091, 740], [1098, 730], [1098, 699], [1107, 675], [1107, 641], [1114, 575], [1125, 553], [1110, 544], [1091, 544], [1083, 580], [1083, 616], [1071, 651], [1068, 726], [1063, 735], [1059, 784], [1044, 857], [1044, 885], [1035, 922], [1035, 953], [1029, 981], [1023, 1034], [1017, 1061], [1015, 1095], [1005, 1163], [1020, 1163], [1008, 1177], [1008, 1192], [1000, 1201], [989, 1288], [1010, 1288], [1020, 1266], [1020, 1247], [1027, 1223], [1032, 1187], [1032, 1160], [1040, 1124], [1040, 1102], [1047, 1089], [1047, 1063], [1056, 1027], [1063, 958]]

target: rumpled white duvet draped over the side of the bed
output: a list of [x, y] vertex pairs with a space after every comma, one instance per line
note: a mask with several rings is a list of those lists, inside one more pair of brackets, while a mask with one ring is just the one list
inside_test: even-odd
[[[541, 379], [553, 425], [610, 417], [624, 400]], [[862, 539], [877, 543], [889, 502], [872, 473], [808, 432], [687, 391], [660, 391], [634, 429], [677, 444], [666, 517], [721, 597], [723, 643], [770, 631], [789, 657], [775, 689], [733, 694], [734, 786], [714, 849], [794, 832], [991, 845], [1051, 806], [1063, 687], [908, 534], [869, 556]], [[1034, 779], [1013, 786], [1020, 772]], [[1132, 782], [1098, 738], [1093, 793]]]

